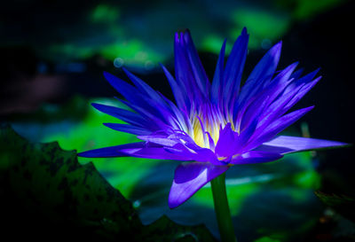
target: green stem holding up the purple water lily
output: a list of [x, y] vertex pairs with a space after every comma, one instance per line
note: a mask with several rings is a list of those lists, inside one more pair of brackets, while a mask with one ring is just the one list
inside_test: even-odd
[[211, 181], [213, 202], [222, 242], [236, 242], [231, 212], [229, 211], [227, 194], [225, 192], [225, 173]]

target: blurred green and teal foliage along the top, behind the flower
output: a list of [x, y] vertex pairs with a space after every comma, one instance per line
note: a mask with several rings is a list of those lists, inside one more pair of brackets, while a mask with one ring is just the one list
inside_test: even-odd
[[[250, 33], [250, 50], [269, 49], [288, 33], [289, 27], [312, 20], [344, 2], [275, 0], [260, 4], [230, 0], [206, 2], [202, 7], [199, 1], [170, 1], [139, 2], [137, 8], [129, 1], [104, 1], [86, 4], [80, 12], [67, 15], [67, 23], [51, 19], [55, 10], [43, 6], [34, 10], [41, 26], [32, 29], [30, 39], [13, 32], [5, 35], [0, 45], [25, 43], [33, 47], [40, 58], [54, 62], [100, 55], [112, 62], [120, 59], [120, 65], [149, 70], [172, 58], [174, 33], [185, 28], [191, 29], [199, 51], [218, 54], [225, 37], [232, 45], [242, 27], [247, 27]], [[41, 16], [51, 19], [51, 26], [47, 26]], [[6, 27], [13, 28], [10, 24], [3, 27], [3, 32]], [[230, 49], [231, 46], [227, 46], [227, 52]]]

